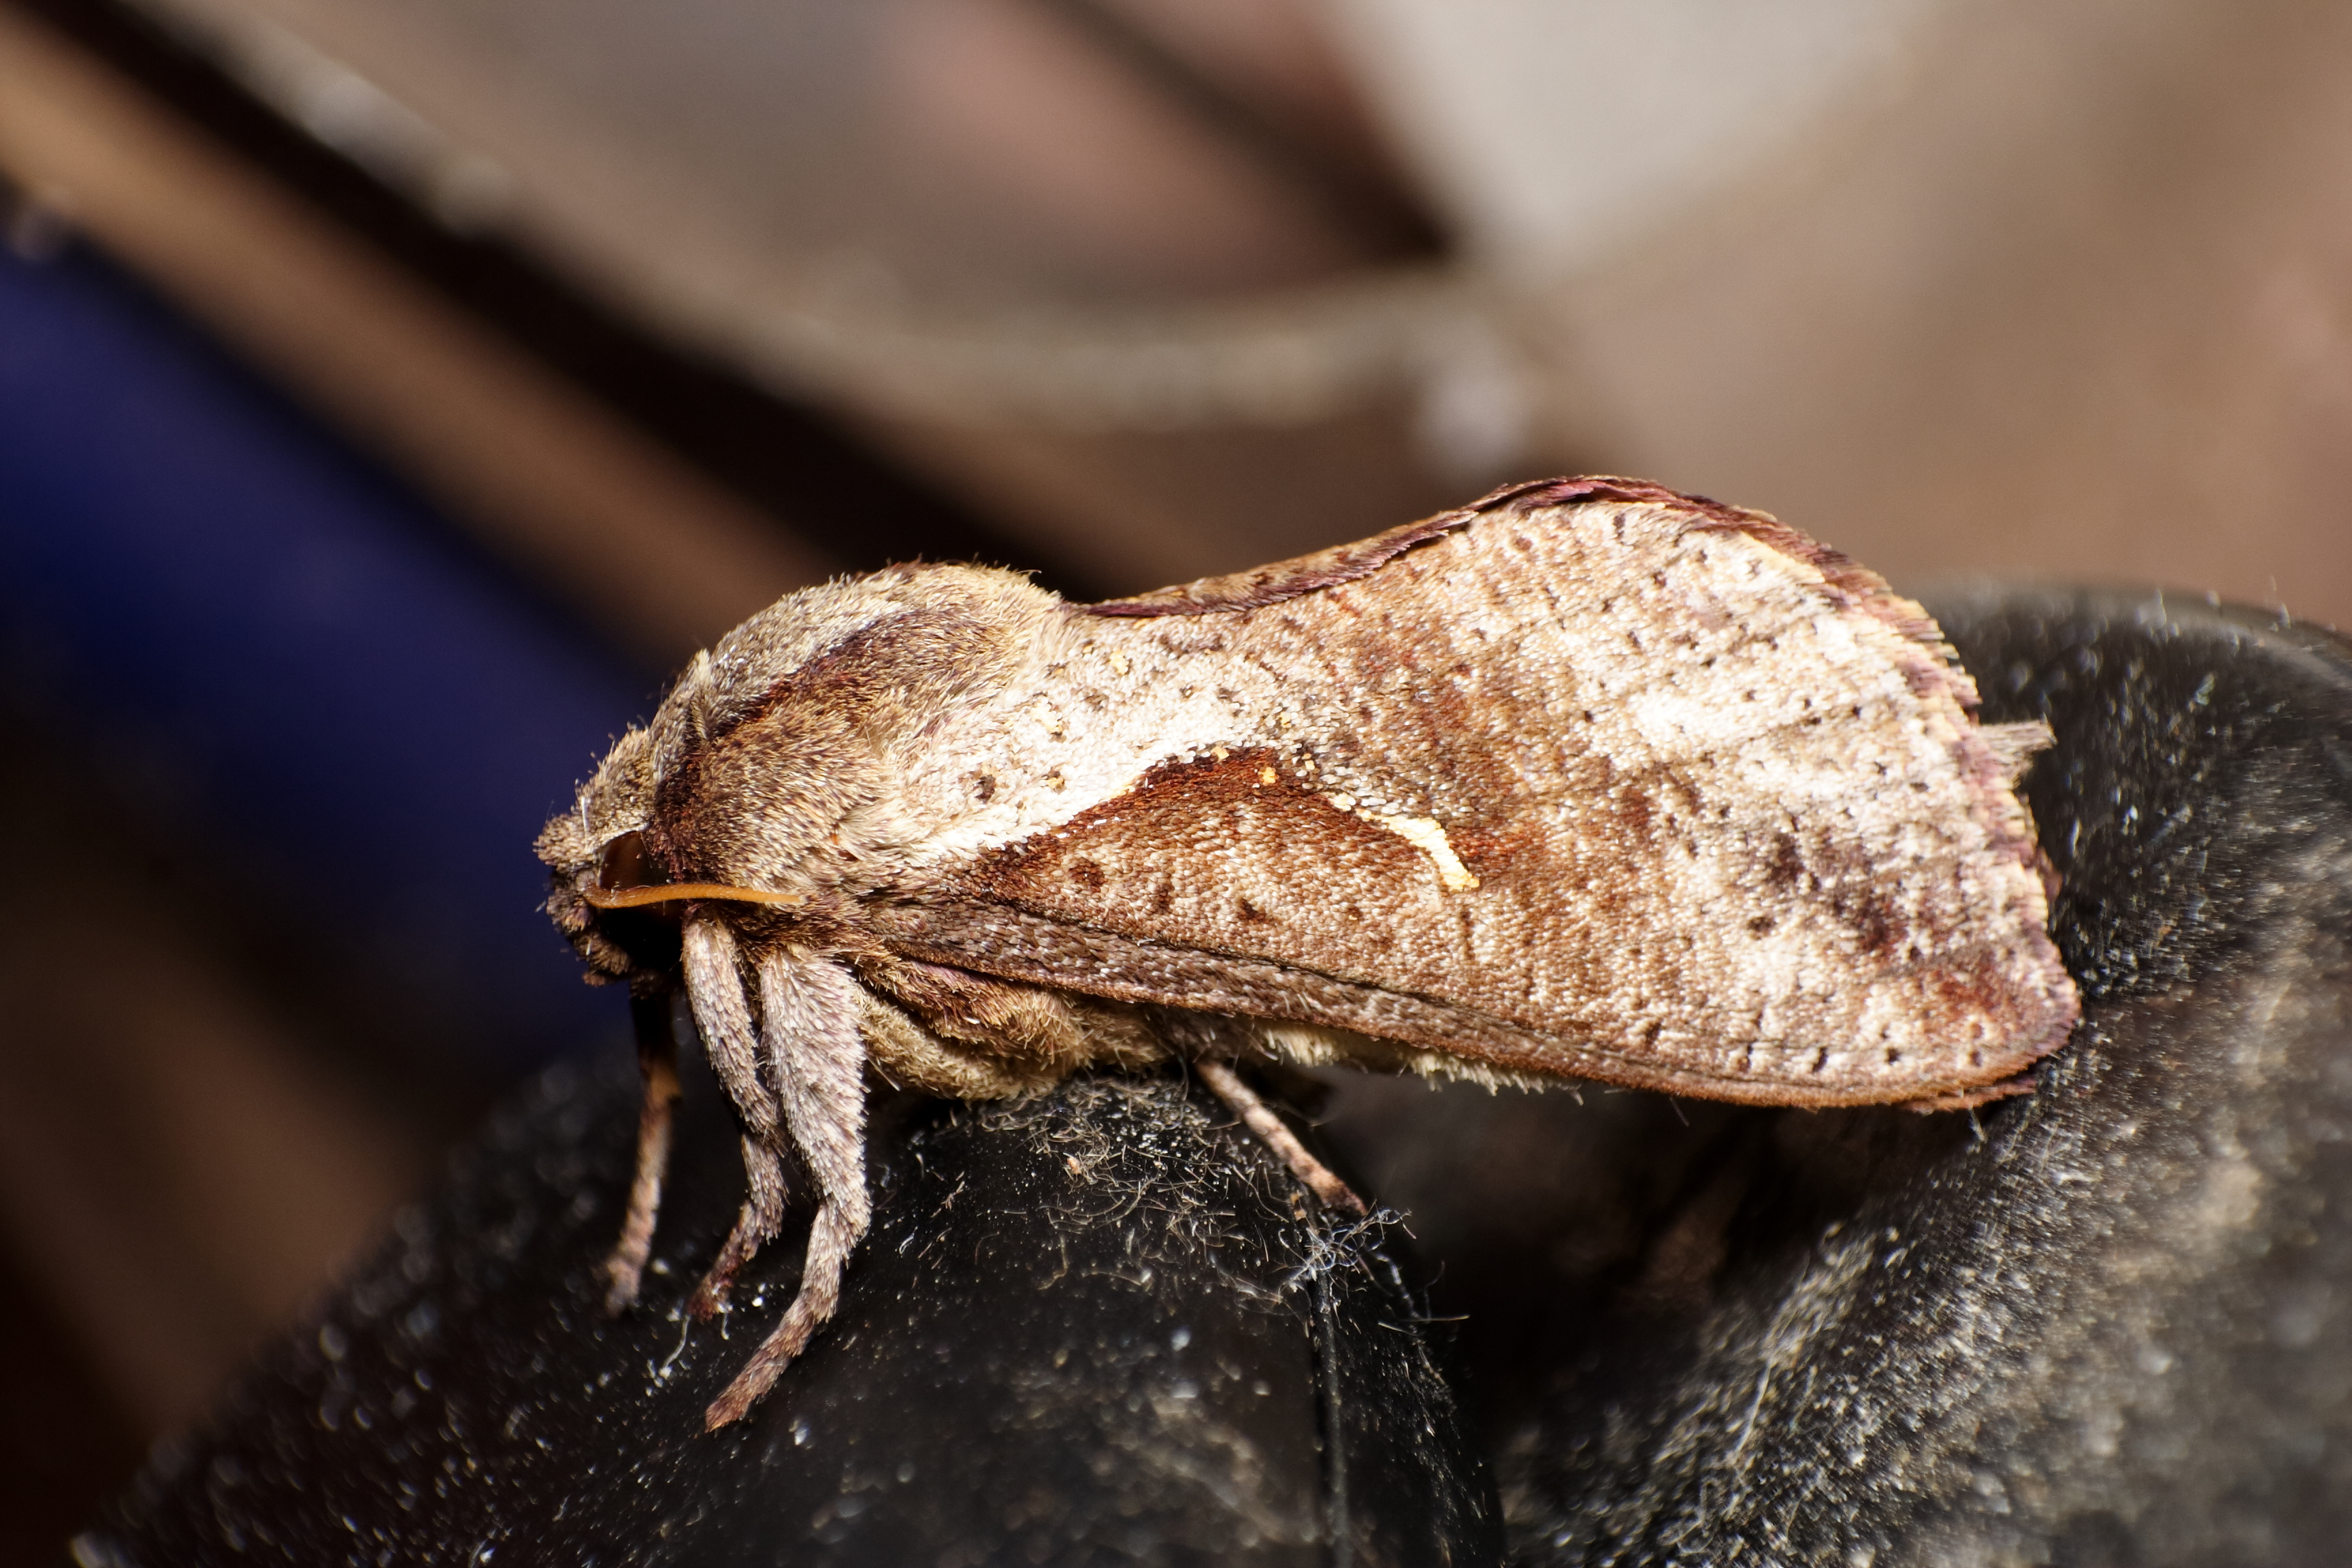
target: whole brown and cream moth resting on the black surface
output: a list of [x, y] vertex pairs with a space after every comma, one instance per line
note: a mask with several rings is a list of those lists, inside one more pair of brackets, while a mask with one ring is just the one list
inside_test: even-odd
[[[715, 1312], [816, 1190], [833, 1312], [868, 1074], [1016, 1095], [1188, 1058], [1331, 1204], [1235, 1060], [1757, 1105], [2016, 1093], [2077, 1016], [2011, 790], [2037, 724], [1910, 599], [1762, 512], [1552, 480], [1228, 578], [1065, 604], [898, 567], [699, 654], [548, 823], [593, 971], [684, 987], [743, 1124]], [[609, 1265], [635, 1298], [675, 1077], [647, 1058]]]

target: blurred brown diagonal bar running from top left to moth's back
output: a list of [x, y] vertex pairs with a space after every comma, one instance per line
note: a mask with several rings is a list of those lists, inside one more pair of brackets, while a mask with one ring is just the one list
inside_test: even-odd
[[0, 172], [656, 658], [830, 562], [0, 5]]

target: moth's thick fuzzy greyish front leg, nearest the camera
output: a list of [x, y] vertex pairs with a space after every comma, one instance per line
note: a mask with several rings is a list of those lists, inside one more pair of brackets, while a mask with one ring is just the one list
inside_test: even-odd
[[783, 1121], [816, 1182], [818, 1206], [809, 1225], [809, 1255], [800, 1265], [800, 1295], [727, 1392], [710, 1401], [703, 1413], [708, 1427], [724, 1427], [750, 1410], [809, 1335], [833, 1316], [842, 1269], [866, 1234], [861, 1013], [858, 983], [840, 964], [788, 943], [760, 954], [760, 1037], [783, 1091]]

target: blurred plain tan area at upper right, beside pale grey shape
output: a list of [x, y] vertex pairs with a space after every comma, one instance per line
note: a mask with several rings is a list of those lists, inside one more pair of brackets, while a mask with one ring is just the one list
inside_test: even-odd
[[1907, 80], [1552, 287], [1559, 447], [1905, 583], [2352, 623], [2352, 7], [1955, 7]]

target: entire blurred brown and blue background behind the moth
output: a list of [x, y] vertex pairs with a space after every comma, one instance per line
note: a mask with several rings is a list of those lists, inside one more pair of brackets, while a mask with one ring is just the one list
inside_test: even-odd
[[2331, 0], [0, 0], [0, 230], [9, 1561], [621, 1048], [529, 839], [788, 588], [1611, 470], [2352, 618]]

